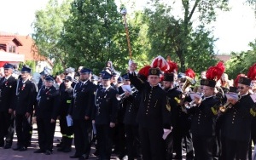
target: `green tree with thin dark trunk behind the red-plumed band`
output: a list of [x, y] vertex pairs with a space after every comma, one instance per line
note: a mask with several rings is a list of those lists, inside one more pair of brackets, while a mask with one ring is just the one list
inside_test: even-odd
[[[172, 9], [175, 2], [168, 2], [171, 6], [167, 6], [155, 0], [150, 8], [145, 9], [144, 20], [148, 23], [151, 44], [149, 54], [151, 57], [170, 54], [174, 61], [180, 63], [181, 71], [193, 65], [195, 71], [200, 71], [200, 64], [207, 64], [205, 67], [208, 67], [215, 63], [212, 60], [215, 39], [204, 26], [216, 19], [217, 9], [227, 9], [228, 3], [220, 0], [181, 0], [182, 14], [175, 16]], [[196, 20], [200, 25], [194, 23]]]

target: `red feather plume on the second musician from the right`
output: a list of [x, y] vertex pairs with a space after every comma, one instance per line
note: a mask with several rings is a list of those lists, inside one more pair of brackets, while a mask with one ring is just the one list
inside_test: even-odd
[[218, 81], [225, 71], [224, 63], [219, 61], [216, 66], [210, 66], [207, 70], [207, 79]]

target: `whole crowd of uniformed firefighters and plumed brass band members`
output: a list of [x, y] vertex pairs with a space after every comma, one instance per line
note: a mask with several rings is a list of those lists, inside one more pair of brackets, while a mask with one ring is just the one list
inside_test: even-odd
[[[232, 160], [255, 159], [256, 64], [247, 75], [229, 80], [218, 62], [195, 82], [188, 68], [177, 72], [172, 61], [154, 59], [137, 71], [129, 61], [121, 74], [108, 61], [98, 76], [92, 70], [72, 67], [53, 77], [23, 66], [3, 66], [0, 79], [0, 147], [26, 151], [31, 145], [32, 123], [38, 126], [38, 150], [53, 153], [56, 121], [61, 127], [57, 151], [75, 153], [70, 158], [100, 160]], [[14, 131], [17, 145], [12, 146]], [[96, 142], [96, 143], [95, 143]], [[252, 143], [253, 142], [253, 143]], [[67, 156], [68, 157], [68, 156]]]

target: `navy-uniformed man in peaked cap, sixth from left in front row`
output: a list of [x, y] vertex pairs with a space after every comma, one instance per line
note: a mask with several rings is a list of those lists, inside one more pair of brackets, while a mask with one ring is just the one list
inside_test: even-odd
[[107, 71], [102, 73], [102, 89], [96, 91], [93, 120], [96, 123], [99, 158], [108, 160], [113, 145], [113, 127], [115, 127], [118, 101], [118, 92], [111, 86], [111, 77]]

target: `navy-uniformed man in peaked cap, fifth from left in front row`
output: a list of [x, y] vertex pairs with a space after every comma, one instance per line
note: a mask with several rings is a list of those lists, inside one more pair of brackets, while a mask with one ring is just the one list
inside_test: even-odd
[[87, 159], [91, 145], [91, 111], [94, 105], [94, 85], [90, 82], [91, 70], [80, 71], [80, 82], [74, 87], [69, 115], [73, 117], [74, 145], [76, 152], [71, 158]]

